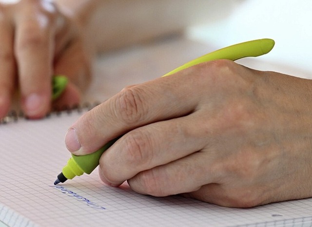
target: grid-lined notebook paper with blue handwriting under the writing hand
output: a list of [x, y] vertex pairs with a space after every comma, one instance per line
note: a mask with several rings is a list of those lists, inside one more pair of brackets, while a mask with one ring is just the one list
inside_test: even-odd
[[101, 183], [98, 171], [53, 187], [70, 153], [64, 144], [78, 112], [0, 125], [0, 221], [44, 226], [312, 226], [312, 199], [223, 208], [179, 196], [140, 195]]

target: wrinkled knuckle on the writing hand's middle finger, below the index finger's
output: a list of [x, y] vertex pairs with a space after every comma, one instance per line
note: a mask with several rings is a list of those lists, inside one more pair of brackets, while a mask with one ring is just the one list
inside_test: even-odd
[[151, 146], [151, 140], [146, 134], [139, 130], [134, 130], [131, 133], [126, 134], [125, 144], [128, 161], [133, 166], [145, 166], [151, 161], [153, 151]]

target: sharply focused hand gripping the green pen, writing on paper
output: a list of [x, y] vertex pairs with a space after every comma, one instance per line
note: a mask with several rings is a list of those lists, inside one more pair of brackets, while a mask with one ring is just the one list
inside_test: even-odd
[[[310, 87], [309, 87], [310, 86]], [[100, 159], [101, 179], [142, 194], [227, 207], [312, 196], [311, 81], [228, 60], [128, 87], [84, 114], [68, 149]]]

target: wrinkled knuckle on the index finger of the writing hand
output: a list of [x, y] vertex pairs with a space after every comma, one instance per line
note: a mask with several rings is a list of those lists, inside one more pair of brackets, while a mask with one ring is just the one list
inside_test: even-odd
[[129, 125], [137, 124], [147, 113], [142, 99], [142, 90], [135, 87], [123, 89], [117, 98], [117, 110], [121, 120]]

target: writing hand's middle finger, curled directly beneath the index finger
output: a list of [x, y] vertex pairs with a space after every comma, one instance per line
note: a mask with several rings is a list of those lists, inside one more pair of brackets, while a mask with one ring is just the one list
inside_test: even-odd
[[100, 158], [103, 176], [117, 186], [137, 173], [201, 150], [207, 138], [192, 115], [153, 123], [125, 134]]

